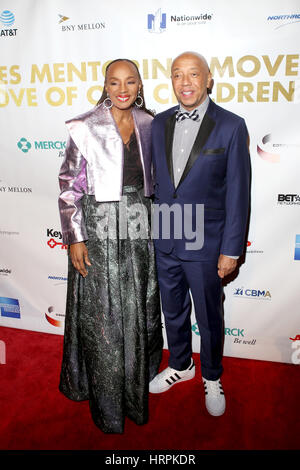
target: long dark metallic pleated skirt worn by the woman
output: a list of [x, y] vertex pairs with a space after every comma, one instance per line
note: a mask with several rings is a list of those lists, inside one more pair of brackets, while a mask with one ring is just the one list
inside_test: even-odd
[[91, 266], [84, 278], [69, 257], [59, 389], [89, 400], [103, 432], [122, 433], [126, 416], [148, 421], [149, 381], [163, 347], [151, 201], [125, 186], [120, 203], [84, 196], [82, 207]]

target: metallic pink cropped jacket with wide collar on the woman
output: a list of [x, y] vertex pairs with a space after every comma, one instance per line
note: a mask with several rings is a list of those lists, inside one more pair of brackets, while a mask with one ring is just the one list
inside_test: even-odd
[[[152, 116], [132, 108], [144, 173], [144, 195], [153, 193], [151, 165]], [[59, 211], [63, 243], [88, 239], [82, 215], [84, 194], [96, 201], [120, 201], [123, 186], [123, 141], [109, 109], [102, 104], [66, 121], [69, 138], [59, 172]]]

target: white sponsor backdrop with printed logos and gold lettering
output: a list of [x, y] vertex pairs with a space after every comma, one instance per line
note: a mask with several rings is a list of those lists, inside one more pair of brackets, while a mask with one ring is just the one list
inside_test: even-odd
[[[137, 62], [147, 106], [167, 109], [171, 61], [196, 50], [212, 99], [250, 135], [248, 246], [224, 288], [224, 353], [299, 364], [299, 33], [298, 0], [0, 0], [0, 324], [63, 334], [64, 121], [95, 105], [118, 57]], [[194, 317], [192, 330], [199, 351]]]

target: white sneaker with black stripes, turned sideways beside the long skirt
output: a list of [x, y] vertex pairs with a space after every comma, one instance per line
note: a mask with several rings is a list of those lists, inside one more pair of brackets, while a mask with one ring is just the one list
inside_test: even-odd
[[169, 390], [179, 382], [185, 382], [195, 377], [195, 363], [191, 360], [191, 365], [185, 370], [176, 370], [167, 367], [160, 374], [157, 374], [149, 384], [150, 393], [162, 393]]

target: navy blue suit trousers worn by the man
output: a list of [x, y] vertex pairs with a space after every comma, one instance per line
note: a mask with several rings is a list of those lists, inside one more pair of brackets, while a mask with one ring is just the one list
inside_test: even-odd
[[[156, 249], [158, 282], [165, 317], [169, 366], [186, 369], [192, 356], [191, 307], [201, 337], [200, 361], [202, 376], [220, 378], [224, 341], [222, 280], [217, 263], [185, 261], [176, 254]], [[191, 295], [192, 300], [191, 300]]]

